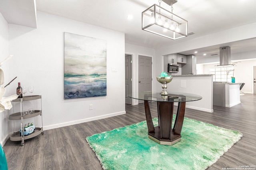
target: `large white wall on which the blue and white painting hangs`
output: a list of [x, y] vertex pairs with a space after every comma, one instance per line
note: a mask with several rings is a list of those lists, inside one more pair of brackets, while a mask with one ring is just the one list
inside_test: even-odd
[[[9, 90], [21, 82], [42, 95], [44, 130], [124, 114], [124, 33], [39, 11], [37, 23], [37, 29], [9, 24], [9, 53], [15, 56], [9, 77], [18, 76]], [[107, 96], [64, 100], [64, 32], [107, 41]]]

